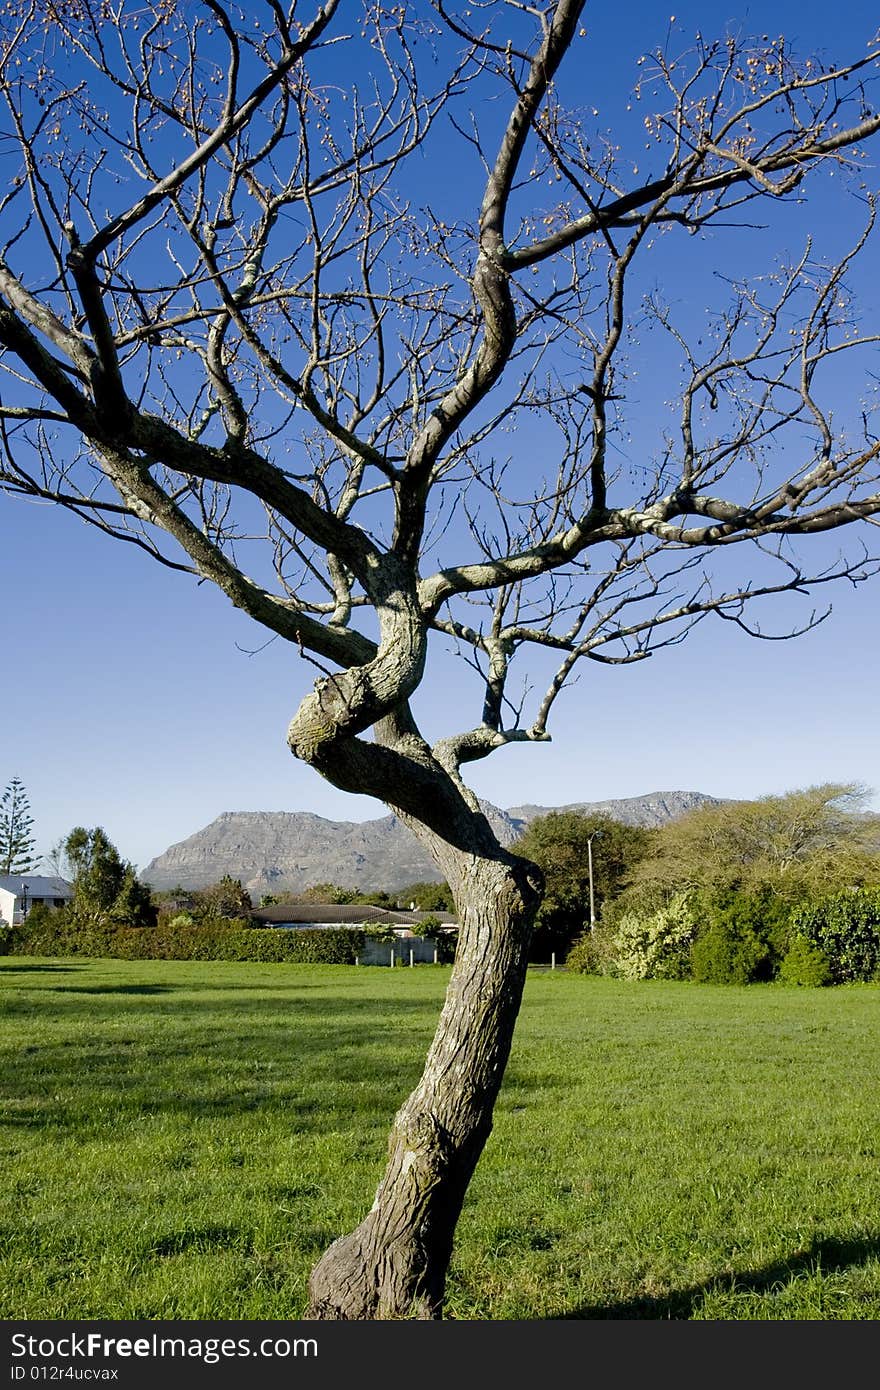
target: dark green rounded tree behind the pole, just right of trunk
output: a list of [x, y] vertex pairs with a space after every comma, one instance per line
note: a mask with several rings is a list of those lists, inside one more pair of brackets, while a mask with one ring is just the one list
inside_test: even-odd
[[520, 837], [517, 853], [544, 872], [544, 901], [535, 919], [532, 955], [549, 960], [551, 951], [566, 951], [589, 927], [589, 862], [595, 915], [606, 899], [630, 881], [649, 852], [656, 831], [624, 826], [605, 815], [553, 810], [537, 816]]

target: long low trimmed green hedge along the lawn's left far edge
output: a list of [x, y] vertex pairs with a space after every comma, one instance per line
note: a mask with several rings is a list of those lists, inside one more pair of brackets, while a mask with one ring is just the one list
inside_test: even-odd
[[111, 956], [121, 960], [266, 960], [353, 965], [364, 934], [350, 929], [250, 927], [243, 920], [167, 922], [157, 927], [79, 923], [64, 909], [33, 909], [7, 929], [8, 955]]

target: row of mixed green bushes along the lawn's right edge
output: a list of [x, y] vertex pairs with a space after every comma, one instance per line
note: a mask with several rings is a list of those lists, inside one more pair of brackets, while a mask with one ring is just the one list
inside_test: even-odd
[[628, 980], [823, 986], [880, 981], [880, 888], [785, 903], [769, 890], [678, 894], [580, 937], [570, 970]]

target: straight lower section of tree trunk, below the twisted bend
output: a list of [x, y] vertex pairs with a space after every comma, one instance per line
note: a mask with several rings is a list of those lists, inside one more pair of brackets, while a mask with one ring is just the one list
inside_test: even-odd
[[455, 894], [455, 966], [421, 1080], [395, 1118], [373, 1208], [311, 1272], [307, 1318], [442, 1316], [455, 1227], [492, 1129], [539, 901], [534, 866], [498, 844], [487, 852], [487, 823], [474, 821], [480, 851], [470, 855], [413, 826]]

